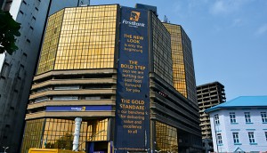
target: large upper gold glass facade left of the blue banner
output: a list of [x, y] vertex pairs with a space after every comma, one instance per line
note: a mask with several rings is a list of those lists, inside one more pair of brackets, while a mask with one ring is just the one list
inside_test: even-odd
[[114, 68], [117, 5], [66, 8], [51, 16], [37, 74]]

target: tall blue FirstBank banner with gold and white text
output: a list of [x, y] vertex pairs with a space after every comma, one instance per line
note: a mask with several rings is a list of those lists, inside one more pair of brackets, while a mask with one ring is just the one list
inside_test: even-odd
[[116, 152], [150, 149], [148, 11], [121, 7], [117, 63]]

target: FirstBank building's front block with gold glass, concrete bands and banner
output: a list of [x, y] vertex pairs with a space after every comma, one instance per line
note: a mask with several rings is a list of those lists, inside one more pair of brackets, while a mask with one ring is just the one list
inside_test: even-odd
[[172, 36], [156, 10], [109, 4], [49, 17], [23, 153], [201, 150], [198, 106], [174, 88]]

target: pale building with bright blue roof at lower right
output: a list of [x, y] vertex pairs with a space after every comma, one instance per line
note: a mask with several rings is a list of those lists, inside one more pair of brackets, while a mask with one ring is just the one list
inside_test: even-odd
[[214, 152], [267, 151], [267, 95], [240, 96], [206, 109]]

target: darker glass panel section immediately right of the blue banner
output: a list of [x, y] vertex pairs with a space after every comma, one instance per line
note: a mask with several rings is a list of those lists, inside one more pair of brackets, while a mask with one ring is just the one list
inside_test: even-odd
[[152, 14], [152, 29], [154, 72], [165, 79], [168, 84], [174, 85], [171, 39], [155, 14]]

